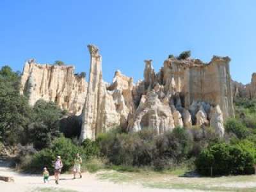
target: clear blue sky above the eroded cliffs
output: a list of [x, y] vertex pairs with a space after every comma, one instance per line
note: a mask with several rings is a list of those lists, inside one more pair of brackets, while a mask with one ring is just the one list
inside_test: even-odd
[[256, 72], [256, 1], [242, 0], [0, 0], [0, 67], [61, 60], [89, 70], [87, 44], [102, 54], [104, 80], [116, 69], [137, 81], [145, 59], [158, 71], [168, 54], [230, 56], [232, 78]]

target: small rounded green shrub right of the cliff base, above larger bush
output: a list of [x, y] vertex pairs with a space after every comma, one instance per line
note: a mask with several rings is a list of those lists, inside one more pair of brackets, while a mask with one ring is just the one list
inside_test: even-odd
[[225, 130], [227, 132], [233, 132], [239, 139], [246, 138], [246, 136], [249, 134], [248, 129], [235, 118], [230, 118], [227, 120]]

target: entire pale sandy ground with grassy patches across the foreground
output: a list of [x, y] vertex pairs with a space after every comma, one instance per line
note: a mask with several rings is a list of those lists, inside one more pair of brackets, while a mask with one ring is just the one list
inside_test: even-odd
[[14, 182], [0, 181], [0, 191], [8, 192], [145, 192], [145, 191], [256, 191], [256, 176], [237, 177], [179, 177], [159, 173], [120, 173], [104, 171], [96, 174], [83, 173], [83, 179], [72, 180], [72, 175], [61, 175], [60, 184], [44, 184], [40, 175], [14, 172], [8, 162], [0, 160], [0, 175], [12, 176]]

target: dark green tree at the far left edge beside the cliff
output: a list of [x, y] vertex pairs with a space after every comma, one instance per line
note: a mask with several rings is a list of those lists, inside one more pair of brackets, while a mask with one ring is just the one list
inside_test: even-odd
[[[13, 145], [22, 141], [31, 108], [20, 95], [20, 76], [8, 66], [0, 70], [0, 141]], [[15, 132], [15, 134], [13, 134]]]

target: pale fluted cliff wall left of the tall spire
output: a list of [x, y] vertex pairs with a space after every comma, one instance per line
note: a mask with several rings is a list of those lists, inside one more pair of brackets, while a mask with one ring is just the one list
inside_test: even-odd
[[73, 66], [40, 65], [26, 61], [20, 80], [20, 93], [28, 94], [33, 106], [38, 99], [56, 102], [61, 109], [79, 115], [86, 98], [84, 77], [74, 75]]

